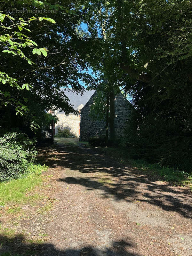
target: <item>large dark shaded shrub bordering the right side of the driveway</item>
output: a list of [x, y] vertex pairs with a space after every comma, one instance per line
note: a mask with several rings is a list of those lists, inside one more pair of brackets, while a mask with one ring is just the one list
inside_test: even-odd
[[134, 159], [191, 172], [192, 136], [173, 118], [156, 115], [140, 118], [138, 128], [128, 124], [127, 147]]

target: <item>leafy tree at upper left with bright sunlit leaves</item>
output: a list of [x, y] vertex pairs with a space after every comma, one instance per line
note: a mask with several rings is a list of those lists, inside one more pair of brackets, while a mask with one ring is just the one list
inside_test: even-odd
[[[6, 51], [0, 56], [4, 63], [1, 75], [7, 74], [6, 82], [13, 85], [5, 91], [3, 79], [0, 87], [3, 126], [34, 126], [44, 110], [52, 107], [66, 114], [76, 113], [65, 92], [60, 91], [61, 87], [71, 87], [81, 93], [84, 87], [79, 81], [85, 82], [88, 77], [81, 72], [86, 69], [85, 42], [76, 31], [80, 17], [73, 7], [68, 1], [51, 0], [14, 3], [6, 0], [1, 4], [1, 24], [8, 30], [4, 33], [9, 33], [5, 39], [1, 37], [4, 42], [0, 48]], [[24, 11], [21, 15], [13, 12], [13, 8]], [[10, 12], [4, 14], [5, 10]], [[13, 32], [9, 28], [13, 28]], [[9, 108], [8, 103], [12, 104]], [[17, 114], [23, 115], [23, 110], [28, 113], [14, 117], [15, 107]], [[7, 120], [6, 116], [12, 117]]]

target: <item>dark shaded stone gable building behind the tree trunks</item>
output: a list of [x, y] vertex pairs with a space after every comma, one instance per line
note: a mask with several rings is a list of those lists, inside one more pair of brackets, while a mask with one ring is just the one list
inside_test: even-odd
[[[94, 121], [90, 117], [91, 105], [94, 104], [94, 98], [97, 92], [94, 92], [90, 100], [81, 109], [81, 129], [80, 140], [87, 141], [90, 137], [100, 137], [106, 134], [106, 121]], [[133, 106], [120, 92], [115, 96], [115, 130], [116, 138], [124, 137], [126, 124], [132, 113]], [[109, 129], [110, 134], [110, 129]]]

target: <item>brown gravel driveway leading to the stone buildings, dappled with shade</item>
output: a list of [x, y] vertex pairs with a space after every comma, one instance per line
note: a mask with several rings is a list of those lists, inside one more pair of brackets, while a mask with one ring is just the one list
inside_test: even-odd
[[[51, 201], [52, 209], [34, 213], [36, 206], [24, 205], [18, 235], [0, 255], [192, 255], [192, 195], [186, 188], [153, 180], [99, 149], [58, 145], [44, 149], [42, 158], [50, 170], [48, 196], [39, 207]], [[24, 234], [43, 242], [23, 242]]]

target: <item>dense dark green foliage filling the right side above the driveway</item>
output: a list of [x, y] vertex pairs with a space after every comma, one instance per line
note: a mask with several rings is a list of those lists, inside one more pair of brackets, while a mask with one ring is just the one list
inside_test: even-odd
[[132, 156], [190, 172], [190, 1], [84, 1], [82, 13], [84, 35], [100, 38], [93, 70], [132, 94], [136, 113], [125, 135]]

